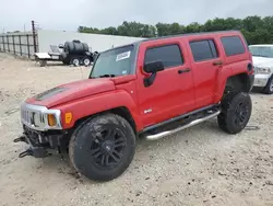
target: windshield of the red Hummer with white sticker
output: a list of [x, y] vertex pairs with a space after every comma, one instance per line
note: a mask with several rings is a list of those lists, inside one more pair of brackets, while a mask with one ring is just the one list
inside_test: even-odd
[[114, 48], [99, 54], [90, 78], [129, 75], [133, 67], [133, 45]]

